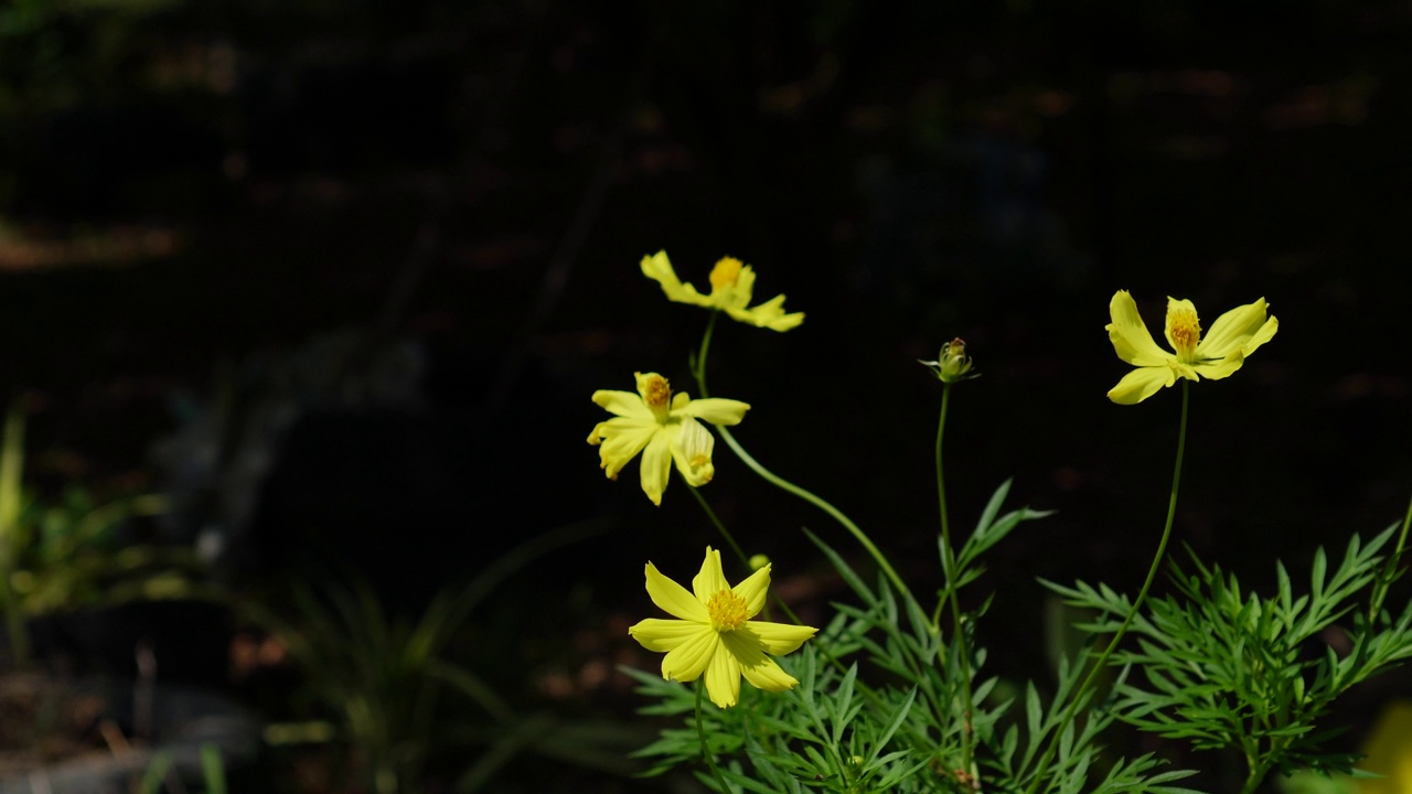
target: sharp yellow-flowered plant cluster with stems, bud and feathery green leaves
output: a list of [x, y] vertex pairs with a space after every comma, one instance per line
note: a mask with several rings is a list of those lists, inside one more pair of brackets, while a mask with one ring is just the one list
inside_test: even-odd
[[[1279, 324], [1264, 298], [1223, 314], [1204, 332], [1190, 301], [1169, 298], [1169, 348], [1162, 348], [1134, 298], [1114, 294], [1108, 338], [1134, 369], [1108, 398], [1137, 404], [1182, 386], [1166, 523], [1132, 598], [1103, 583], [1043, 582], [1087, 616], [1076, 626], [1086, 644], [1077, 657], [1059, 660], [1052, 684], [1014, 685], [986, 671], [977, 623], [988, 599], [963, 609], [977, 599], [960, 593], [981, 579], [995, 544], [1046, 513], [1007, 510], [1005, 482], [974, 530], [964, 537], [952, 531], [942, 452], [952, 389], [977, 377], [966, 343], [953, 339], [936, 360], [922, 362], [942, 383], [935, 463], [943, 585], [916, 593], [857, 523], [744, 449], [730, 428], [746, 418], [747, 403], [709, 396], [707, 356], [722, 314], [774, 331], [798, 326], [803, 314], [785, 314], [784, 295], [751, 308], [755, 275], [736, 259], [716, 264], [705, 294], [678, 278], [665, 253], [644, 257], [641, 268], [669, 300], [712, 312], [690, 362], [699, 397], [674, 391], [661, 374], [638, 373], [635, 393], [593, 394], [614, 417], [600, 422], [589, 442], [599, 445], [610, 479], [641, 455], [642, 490], [658, 504], [675, 468], [741, 569], [751, 571], [731, 586], [722, 554], [707, 547], [688, 589], [647, 564], [648, 595], [672, 619], [645, 619], [630, 634], [665, 656], [659, 675], [624, 672], [651, 702], [644, 713], [679, 721], [640, 752], [651, 759], [648, 774], [686, 766], [713, 791], [760, 794], [1192, 791], [1183, 786], [1196, 771], [1158, 753], [1117, 757], [1108, 746], [1110, 729], [1120, 723], [1238, 756], [1245, 769], [1241, 794], [1260, 790], [1275, 773], [1356, 773], [1358, 757], [1329, 749], [1337, 729], [1324, 722], [1350, 687], [1412, 656], [1412, 605], [1387, 606], [1412, 509], [1401, 526], [1371, 540], [1353, 535], [1332, 569], [1320, 550], [1308, 588], [1276, 562], [1278, 585], [1268, 596], [1244, 591], [1236, 575], [1195, 552], [1186, 565], [1168, 559], [1190, 384], [1234, 374], [1276, 335]], [[714, 476], [707, 424], [751, 470], [827, 513], [871, 558], [875, 581], [805, 530], [853, 595], [833, 605], [822, 629], [799, 626], [778, 598], [772, 606], [789, 622], [757, 619], [768, 608], [771, 564], [747, 558], [699, 490]], [[1171, 593], [1149, 599], [1163, 567]], [[750, 687], [741, 687], [741, 678]]]

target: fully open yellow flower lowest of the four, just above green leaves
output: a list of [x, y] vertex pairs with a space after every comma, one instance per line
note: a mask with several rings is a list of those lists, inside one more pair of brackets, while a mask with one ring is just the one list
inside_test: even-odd
[[706, 694], [720, 708], [740, 701], [741, 675], [758, 689], [782, 692], [799, 681], [765, 654], [791, 653], [818, 629], [751, 620], [765, 606], [767, 589], [768, 564], [731, 588], [720, 568], [720, 552], [709, 545], [690, 591], [648, 562], [647, 593], [678, 620], [648, 617], [627, 633], [644, 648], [666, 653], [662, 678], [695, 681], [705, 672]]

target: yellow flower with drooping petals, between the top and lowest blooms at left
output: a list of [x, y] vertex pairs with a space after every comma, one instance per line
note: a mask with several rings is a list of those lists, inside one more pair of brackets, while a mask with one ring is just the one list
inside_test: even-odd
[[594, 403], [617, 415], [594, 425], [589, 444], [602, 444], [599, 459], [610, 480], [641, 452], [642, 492], [652, 504], [661, 504], [672, 461], [692, 486], [703, 486], [716, 475], [710, 462], [716, 438], [696, 420], [740, 424], [750, 405], [740, 400], [692, 400], [685, 391], [674, 397], [666, 379], [655, 372], [634, 376], [637, 394], [593, 393]]

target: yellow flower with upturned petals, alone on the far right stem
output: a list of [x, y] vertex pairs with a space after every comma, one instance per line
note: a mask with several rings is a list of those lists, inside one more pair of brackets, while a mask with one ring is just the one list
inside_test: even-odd
[[1124, 405], [1141, 403], [1158, 389], [1172, 386], [1178, 377], [1219, 380], [1245, 363], [1245, 356], [1269, 342], [1279, 331], [1279, 321], [1265, 316], [1265, 298], [1216, 318], [1202, 336], [1202, 324], [1192, 301], [1166, 300], [1166, 342], [1175, 353], [1156, 346], [1138, 315], [1137, 302], [1127, 290], [1118, 290], [1108, 304], [1113, 322], [1108, 339], [1124, 362], [1138, 367], [1123, 376], [1108, 391], [1108, 400]]

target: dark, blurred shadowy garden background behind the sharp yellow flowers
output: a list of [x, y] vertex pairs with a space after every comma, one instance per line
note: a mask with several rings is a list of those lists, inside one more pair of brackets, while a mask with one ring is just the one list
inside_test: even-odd
[[[597, 389], [689, 390], [707, 315], [640, 274], [661, 249], [808, 314], [723, 322], [713, 393], [923, 583], [916, 360], [967, 340], [953, 520], [1007, 478], [1058, 510], [973, 593], [1017, 681], [1051, 670], [1035, 578], [1135, 591], [1162, 527], [1179, 396], [1104, 398], [1114, 290], [1152, 326], [1265, 297], [1279, 335], [1193, 389], [1176, 537], [1298, 579], [1412, 489], [1409, 34], [1401, 0], [0, 6], [7, 774], [165, 742], [263, 791], [690, 791], [627, 777], [657, 723], [616, 665], [658, 664], [626, 634], [642, 564], [719, 541], [583, 442]], [[799, 528], [858, 550], [716, 465], [703, 494], [826, 620], [846, 591]], [[1344, 740], [1409, 689], [1353, 698]]]

